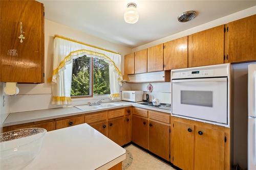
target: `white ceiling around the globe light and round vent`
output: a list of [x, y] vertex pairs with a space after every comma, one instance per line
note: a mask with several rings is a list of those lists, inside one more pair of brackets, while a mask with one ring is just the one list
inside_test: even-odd
[[[44, 1], [46, 19], [102, 39], [136, 47], [256, 5], [256, 1]], [[135, 2], [139, 21], [126, 23], [123, 13]], [[188, 10], [197, 17], [180, 23]]]

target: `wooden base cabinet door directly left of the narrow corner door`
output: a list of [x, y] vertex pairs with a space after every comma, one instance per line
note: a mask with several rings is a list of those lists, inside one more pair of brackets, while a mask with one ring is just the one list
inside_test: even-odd
[[118, 118], [114, 120], [109, 120], [108, 126], [108, 136], [111, 140], [119, 144], [124, 145], [125, 139], [124, 131], [124, 118]]

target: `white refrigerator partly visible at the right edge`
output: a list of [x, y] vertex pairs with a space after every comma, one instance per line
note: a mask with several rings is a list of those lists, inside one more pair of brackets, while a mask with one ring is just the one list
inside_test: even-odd
[[248, 66], [248, 169], [256, 170], [256, 64]]

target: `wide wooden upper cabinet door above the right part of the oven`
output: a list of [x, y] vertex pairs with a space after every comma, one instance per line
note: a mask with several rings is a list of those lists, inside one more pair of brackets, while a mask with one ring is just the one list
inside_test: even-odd
[[224, 63], [224, 25], [188, 36], [188, 67]]

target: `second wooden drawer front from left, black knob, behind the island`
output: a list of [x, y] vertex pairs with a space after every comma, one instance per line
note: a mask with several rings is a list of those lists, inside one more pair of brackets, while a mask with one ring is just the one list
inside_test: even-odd
[[83, 123], [84, 123], [84, 116], [56, 120], [56, 129], [66, 128], [69, 126], [79, 125]]

